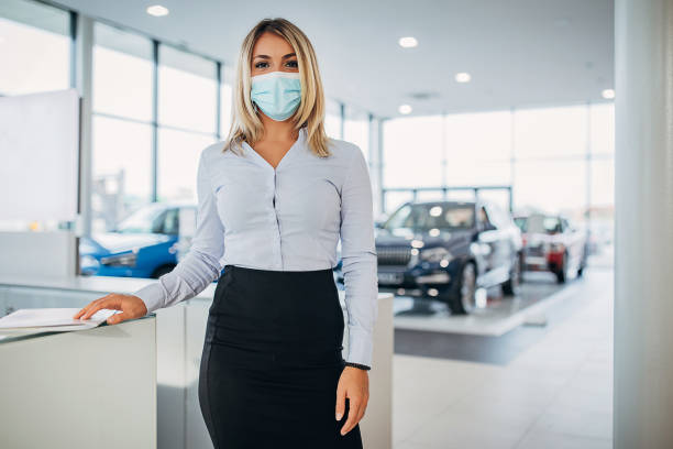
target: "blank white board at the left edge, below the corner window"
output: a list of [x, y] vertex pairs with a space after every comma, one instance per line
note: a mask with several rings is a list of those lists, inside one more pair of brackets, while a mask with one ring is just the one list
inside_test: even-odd
[[74, 220], [79, 95], [0, 97], [0, 219]]

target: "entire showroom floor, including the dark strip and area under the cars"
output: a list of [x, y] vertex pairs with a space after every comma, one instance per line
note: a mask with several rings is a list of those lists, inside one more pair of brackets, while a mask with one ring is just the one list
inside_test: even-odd
[[426, 320], [476, 322], [429, 330], [410, 326], [420, 317], [396, 298], [395, 449], [611, 447], [611, 270], [592, 266], [563, 288], [542, 274], [527, 281], [549, 295], [519, 299], [533, 311], [500, 333], [494, 324], [521, 309], [512, 298], [470, 318], [434, 305]]

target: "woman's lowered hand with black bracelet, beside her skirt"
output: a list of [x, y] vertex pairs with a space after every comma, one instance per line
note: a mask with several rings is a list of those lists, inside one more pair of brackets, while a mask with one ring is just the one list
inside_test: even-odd
[[364, 416], [369, 401], [369, 375], [366, 370], [345, 366], [336, 386], [336, 420], [345, 410], [345, 398], [349, 398], [349, 418], [341, 427], [341, 435], [349, 432]]

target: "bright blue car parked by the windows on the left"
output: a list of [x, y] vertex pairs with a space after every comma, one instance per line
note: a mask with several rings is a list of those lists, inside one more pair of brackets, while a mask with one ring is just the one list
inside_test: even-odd
[[170, 272], [178, 262], [180, 220], [194, 220], [196, 226], [196, 206], [153, 202], [129, 216], [112, 232], [81, 239], [80, 273], [157, 278]]

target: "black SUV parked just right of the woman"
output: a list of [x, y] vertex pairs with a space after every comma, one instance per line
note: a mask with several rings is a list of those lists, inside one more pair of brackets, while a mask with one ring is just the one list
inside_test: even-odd
[[443, 300], [454, 314], [475, 308], [478, 287], [518, 292], [521, 233], [495, 204], [406, 202], [377, 228], [380, 291]]

